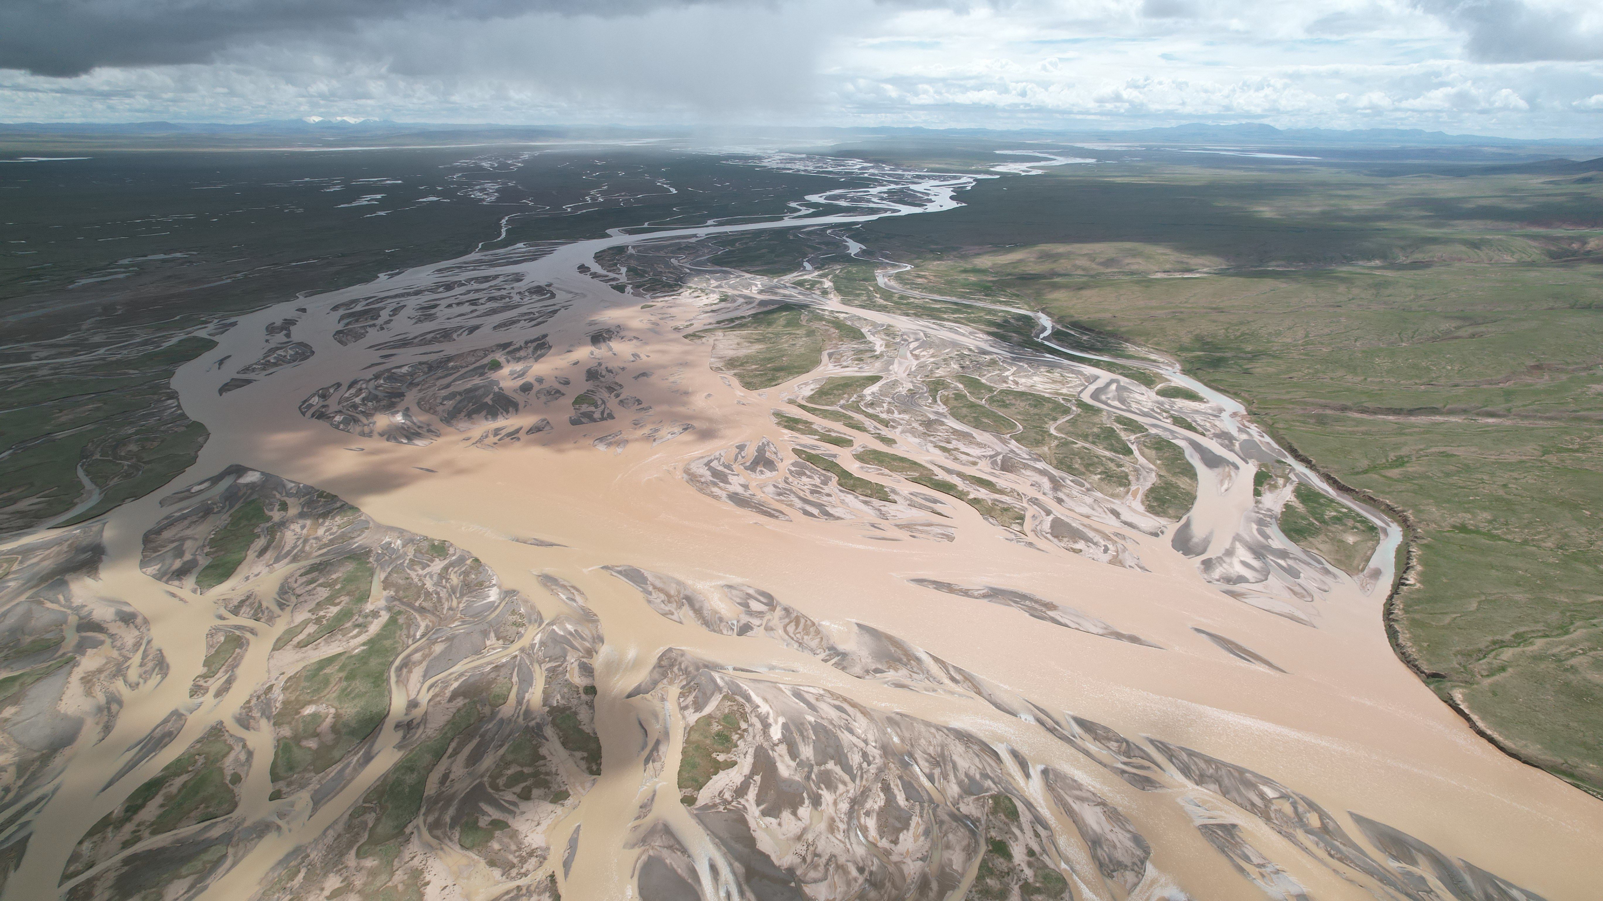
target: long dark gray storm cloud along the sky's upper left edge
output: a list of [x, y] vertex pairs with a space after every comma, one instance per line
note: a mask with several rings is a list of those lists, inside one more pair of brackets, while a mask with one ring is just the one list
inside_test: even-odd
[[96, 66], [208, 63], [229, 46], [434, 16], [627, 16], [723, 0], [3, 0], [0, 69], [82, 75]]

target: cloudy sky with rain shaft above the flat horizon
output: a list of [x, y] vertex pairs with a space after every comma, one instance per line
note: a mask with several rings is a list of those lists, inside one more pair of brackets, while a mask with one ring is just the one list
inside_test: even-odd
[[0, 122], [1603, 138], [1600, 0], [3, 0]]

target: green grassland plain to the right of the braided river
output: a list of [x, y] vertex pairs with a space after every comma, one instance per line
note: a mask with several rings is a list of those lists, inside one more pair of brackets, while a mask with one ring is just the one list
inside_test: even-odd
[[[1029, 186], [866, 242], [919, 265], [902, 284], [1172, 354], [1391, 507], [1399, 654], [1505, 750], [1603, 792], [1603, 183], [1116, 165]], [[1282, 527], [1351, 571], [1366, 535], [1339, 518], [1298, 494]]]

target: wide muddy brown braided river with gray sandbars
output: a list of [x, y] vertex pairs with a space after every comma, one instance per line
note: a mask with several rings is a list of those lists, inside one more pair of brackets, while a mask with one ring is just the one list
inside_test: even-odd
[[[776, 228], [872, 261], [853, 223], [971, 183], [747, 162], [874, 186], [285, 301], [180, 369], [196, 465], [0, 552], [75, 654], [5, 713], [3, 898], [1597, 895], [1603, 802], [1388, 646], [1395, 523], [1162, 358], [1020, 349], [888, 263], [872, 305], [705, 263]], [[782, 303], [851, 332], [742, 388], [761, 348], [705, 330]], [[1281, 532], [1297, 484], [1367, 564]]]

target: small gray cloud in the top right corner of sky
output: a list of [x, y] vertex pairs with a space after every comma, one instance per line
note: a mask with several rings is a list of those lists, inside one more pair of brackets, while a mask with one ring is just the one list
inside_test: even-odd
[[1603, 59], [1603, 34], [1587, 29], [1579, 6], [1536, 8], [1523, 0], [1417, 0], [1415, 5], [1464, 32], [1476, 63]]

